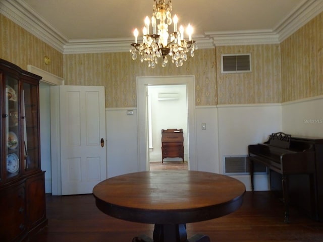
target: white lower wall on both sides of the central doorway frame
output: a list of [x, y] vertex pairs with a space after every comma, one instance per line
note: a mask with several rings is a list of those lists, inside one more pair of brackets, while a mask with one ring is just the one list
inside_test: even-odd
[[[217, 120], [217, 107], [196, 108], [197, 170], [219, 173]], [[139, 171], [137, 136], [136, 108], [106, 109], [107, 177]]]

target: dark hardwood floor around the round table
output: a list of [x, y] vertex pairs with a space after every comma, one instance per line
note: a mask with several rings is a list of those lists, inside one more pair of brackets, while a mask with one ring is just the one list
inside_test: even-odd
[[[103, 214], [92, 194], [46, 195], [48, 226], [32, 241], [131, 242], [139, 234], [152, 235], [152, 224], [123, 221]], [[224, 241], [323, 241], [323, 223], [291, 208], [291, 223], [283, 222], [283, 204], [271, 192], [247, 192], [242, 207], [217, 219], [187, 224], [188, 236], [209, 235]]]

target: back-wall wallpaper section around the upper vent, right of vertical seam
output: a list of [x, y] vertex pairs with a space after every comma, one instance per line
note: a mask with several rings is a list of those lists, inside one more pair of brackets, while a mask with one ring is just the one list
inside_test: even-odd
[[[251, 73], [221, 74], [221, 54], [251, 53]], [[280, 45], [217, 47], [219, 104], [280, 103]]]

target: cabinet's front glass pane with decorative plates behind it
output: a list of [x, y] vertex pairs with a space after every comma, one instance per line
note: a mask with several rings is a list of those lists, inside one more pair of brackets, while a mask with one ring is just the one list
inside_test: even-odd
[[[19, 114], [18, 114], [18, 80], [6, 77], [5, 97], [5, 132], [6, 132], [6, 172], [7, 178], [20, 172]], [[4, 120], [4, 119], [3, 119]]]

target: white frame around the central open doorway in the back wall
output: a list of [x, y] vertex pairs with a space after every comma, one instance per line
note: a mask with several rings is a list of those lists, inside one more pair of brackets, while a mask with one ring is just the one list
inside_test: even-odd
[[138, 112], [138, 170], [149, 169], [149, 142], [147, 117], [147, 86], [149, 85], [179, 85], [187, 87], [187, 119], [189, 169], [197, 170], [196, 154], [196, 115], [195, 115], [195, 77], [187, 76], [157, 76], [137, 77], [137, 112]]

